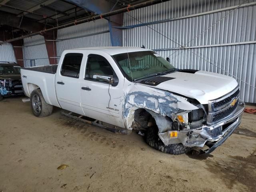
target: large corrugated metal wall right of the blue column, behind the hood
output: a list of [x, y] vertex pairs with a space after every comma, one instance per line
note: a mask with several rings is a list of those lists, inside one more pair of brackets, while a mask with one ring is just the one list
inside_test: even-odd
[[[177, 68], [234, 76], [240, 98], [256, 103], [255, 0], [172, 0], [124, 16], [124, 26], [132, 26], [123, 30], [124, 46], [143, 44], [169, 56]], [[150, 28], [134, 26], [148, 22], [156, 23]], [[186, 49], [179, 49], [180, 45]]]

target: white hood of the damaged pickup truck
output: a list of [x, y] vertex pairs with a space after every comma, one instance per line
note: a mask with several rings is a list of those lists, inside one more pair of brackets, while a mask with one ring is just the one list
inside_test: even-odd
[[201, 104], [208, 104], [208, 100], [224, 96], [238, 86], [236, 80], [230, 76], [206, 71], [173, 72], [164, 77], [173, 79], [152, 87], [195, 98]]

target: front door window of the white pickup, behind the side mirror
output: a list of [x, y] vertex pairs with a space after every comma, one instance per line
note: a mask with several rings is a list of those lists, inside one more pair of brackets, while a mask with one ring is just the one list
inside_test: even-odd
[[109, 83], [113, 75], [114, 70], [106, 58], [96, 54], [88, 56], [85, 79]]

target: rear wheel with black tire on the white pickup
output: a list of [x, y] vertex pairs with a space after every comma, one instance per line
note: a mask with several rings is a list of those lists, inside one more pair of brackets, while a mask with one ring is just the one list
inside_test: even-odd
[[30, 96], [30, 106], [36, 117], [46, 117], [52, 114], [53, 107], [45, 102], [40, 89], [32, 91]]

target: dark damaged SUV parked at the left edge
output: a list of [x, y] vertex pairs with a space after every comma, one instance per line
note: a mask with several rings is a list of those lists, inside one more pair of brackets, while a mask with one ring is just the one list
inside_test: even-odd
[[0, 62], [0, 100], [5, 96], [23, 95], [20, 66]]

